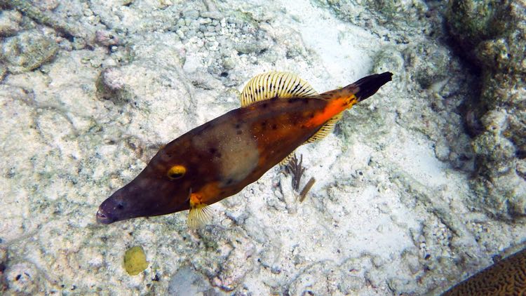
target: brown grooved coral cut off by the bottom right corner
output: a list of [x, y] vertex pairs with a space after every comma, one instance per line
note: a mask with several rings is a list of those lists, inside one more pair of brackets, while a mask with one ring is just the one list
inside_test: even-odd
[[443, 293], [443, 296], [466, 295], [526, 295], [526, 249], [487, 267]]

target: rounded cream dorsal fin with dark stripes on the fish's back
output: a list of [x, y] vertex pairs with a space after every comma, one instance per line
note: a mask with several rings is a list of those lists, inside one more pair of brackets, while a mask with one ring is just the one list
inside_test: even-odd
[[311, 97], [318, 95], [309, 83], [288, 72], [258, 74], [243, 88], [241, 107], [273, 97]]

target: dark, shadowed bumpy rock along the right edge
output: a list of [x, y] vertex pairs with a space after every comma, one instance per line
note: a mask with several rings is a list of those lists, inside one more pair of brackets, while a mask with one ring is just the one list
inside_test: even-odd
[[[506, 220], [526, 216], [526, 5], [451, 1], [447, 23], [480, 82], [466, 121], [477, 154], [473, 205]], [[482, 201], [482, 202], [481, 202]]]

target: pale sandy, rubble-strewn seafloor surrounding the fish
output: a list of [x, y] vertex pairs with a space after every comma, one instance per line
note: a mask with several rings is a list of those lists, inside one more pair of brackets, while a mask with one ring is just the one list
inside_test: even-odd
[[[477, 78], [447, 42], [446, 4], [375, 3], [0, 1], [0, 291], [436, 295], [522, 248], [524, 221], [470, 186], [459, 106]], [[316, 177], [303, 203], [276, 166], [198, 231], [186, 212], [95, 222], [162, 144], [270, 70], [318, 92], [394, 76], [297, 149], [302, 186]], [[137, 276], [133, 245], [149, 261]]]

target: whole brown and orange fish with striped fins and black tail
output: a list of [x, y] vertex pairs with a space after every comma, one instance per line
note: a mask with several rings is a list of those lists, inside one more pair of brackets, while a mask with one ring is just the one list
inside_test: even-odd
[[189, 227], [200, 227], [212, 217], [208, 206], [286, 163], [300, 145], [331, 133], [346, 109], [392, 76], [372, 74], [318, 94], [295, 74], [258, 74], [243, 88], [240, 108], [159, 149], [135, 179], [100, 204], [96, 220], [111, 224], [189, 210]]

